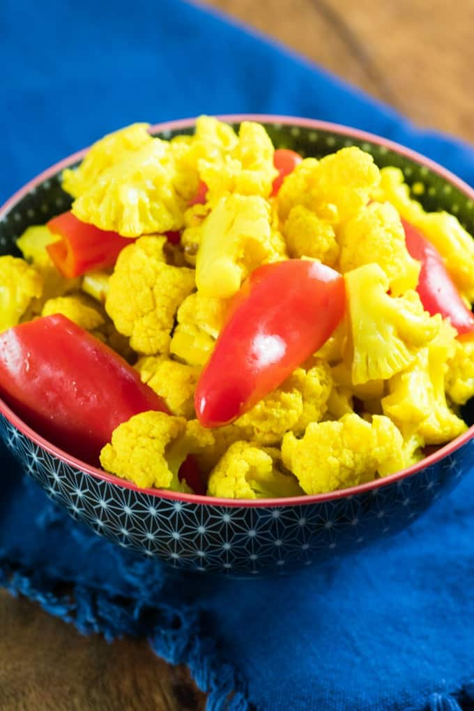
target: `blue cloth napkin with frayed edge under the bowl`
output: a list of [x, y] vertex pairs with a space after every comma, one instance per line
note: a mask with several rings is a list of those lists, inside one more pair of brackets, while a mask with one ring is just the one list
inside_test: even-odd
[[[465, 144], [181, 0], [3, 0], [0, 28], [0, 201], [124, 124], [204, 112], [360, 127], [474, 184]], [[0, 584], [86, 634], [146, 636], [190, 666], [210, 711], [474, 708], [472, 476], [395, 539], [246, 582], [177, 577], [74, 523], [4, 449], [0, 472]]]

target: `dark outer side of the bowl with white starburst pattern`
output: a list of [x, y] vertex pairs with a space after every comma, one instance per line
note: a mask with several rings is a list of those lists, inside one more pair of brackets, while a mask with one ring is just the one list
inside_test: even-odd
[[443, 463], [350, 498], [274, 508], [227, 508], [153, 497], [97, 480], [38, 447], [0, 417], [0, 435], [25, 469], [75, 518], [100, 535], [170, 565], [194, 570], [269, 572], [299, 567], [392, 533], [460, 479], [473, 440]]

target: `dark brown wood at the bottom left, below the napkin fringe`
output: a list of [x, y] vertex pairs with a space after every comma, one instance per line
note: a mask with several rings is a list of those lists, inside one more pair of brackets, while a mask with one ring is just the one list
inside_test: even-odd
[[203, 711], [187, 669], [144, 641], [82, 636], [0, 591], [1, 711]]

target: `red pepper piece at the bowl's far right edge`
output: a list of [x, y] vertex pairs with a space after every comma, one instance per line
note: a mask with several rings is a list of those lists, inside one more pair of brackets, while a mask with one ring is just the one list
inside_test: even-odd
[[474, 314], [461, 299], [436, 247], [413, 225], [402, 220], [406, 249], [421, 262], [416, 291], [426, 311], [450, 319], [459, 336], [474, 332]]

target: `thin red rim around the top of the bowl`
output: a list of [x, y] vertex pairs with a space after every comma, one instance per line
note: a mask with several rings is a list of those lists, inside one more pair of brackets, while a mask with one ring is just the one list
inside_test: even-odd
[[[451, 171], [448, 171], [447, 169], [438, 165], [435, 161], [426, 158], [426, 156], [423, 156], [417, 153], [416, 151], [412, 151], [411, 149], [397, 144], [394, 141], [390, 141], [389, 139], [385, 139], [375, 134], [361, 131], [360, 129], [352, 129], [348, 126], [343, 126], [342, 124], [333, 124], [330, 122], [319, 121], [318, 119], [303, 119], [300, 117], [292, 116], [274, 116], [271, 114], [225, 114], [220, 115], [217, 118], [228, 123], [257, 121], [259, 123], [290, 124], [296, 127], [311, 128], [315, 131], [332, 132], [340, 134], [342, 136], [360, 139], [361, 141], [367, 141], [368, 143], [376, 144], [379, 146], [384, 146], [385, 148], [392, 150], [402, 156], [406, 156], [406, 158], [415, 161], [421, 166], [425, 166], [433, 173], [437, 173], [438, 176], [444, 178], [446, 181], [451, 183], [451, 185], [455, 186], [456, 188], [458, 188], [459, 191], [464, 193], [465, 196], [467, 196], [470, 200], [474, 201], [473, 188], [470, 188], [467, 183], [455, 176], [453, 173], [451, 173]], [[187, 129], [193, 127], [193, 125], [195, 124], [195, 120], [196, 117], [193, 117], [188, 119], [179, 119], [177, 121], [169, 121], [161, 124], [155, 124], [150, 128], [150, 132], [158, 133], [173, 131], [176, 129]], [[16, 203], [18, 203], [21, 198], [30, 193], [33, 188], [36, 188], [36, 186], [38, 186], [40, 183], [43, 183], [43, 181], [46, 181], [48, 180], [48, 178], [55, 176], [57, 173], [60, 173], [60, 171], [67, 168], [71, 164], [80, 161], [84, 157], [87, 150], [88, 148], [82, 149], [80, 151], [77, 151], [77, 153], [68, 156], [68, 158], [59, 161], [58, 163], [43, 171], [43, 173], [40, 173], [38, 176], [36, 176], [36, 178], [33, 178], [31, 181], [26, 183], [23, 188], [20, 188], [18, 191], [16, 191], [16, 193], [14, 193], [14, 195], [11, 196], [11, 198], [9, 198], [9, 200], [7, 200], [6, 203], [4, 203], [4, 205], [0, 208], [0, 220], [4, 217], [4, 215], [6, 215], [6, 213], [8, 213], [12, 208], [14, 208], [14, 205], [16, 205]], [[409, 466], [407, 469], [402, 469], [401, 471], [397, 471], [395, 474], [391, 474], [390, 476], [386, 476], [382, 479], [375, 479], [374, 481], [359, 484], [358, 486], [351, 486], [350, 488], [338, 489], [337, 491], [329, 491], [327, 493], [321, 493], [313, 496], [291, 496], [289, 498], [232, 499], [217, 498], [214, 496], [198, 496], [198, 494], [179, 493], [177, 491], [168, 491], [166, 489], [140, 488], [131, 481], [126, 481], [126, 479], [119, 479], [117, 476], [107, 474], [107, 472], [102, 471], [102, 469], [97, 469], [97, 467], [90, 466], [90, 464], [85, 464], [85, 462], [81, 461], [80, 459], [76, 459], [74, 456], [71, 456], [62, 449], [59, 449], [59, 447], [55, 447], [54, 444], [51, 444], [46, 439], [41, 437], [41, 435], [31, 429], [31, 427], [29, 427], [26, 422], [23, 422], [22, 419], [15, 415], [13, 410], [11, 410], [10, 407], [8, 407], [8, 405], [6, 405], [3, 400], [1, 400], [1, 398], [0, 414], [4, 415], [4, 417], [6, 417], [6, 419], [8, 419], [9, 422], [14, 425], [14, 427], [16, 427], [26, 437], [28, 437], [28, 439], [31, 439], [35, 444], [38, 444], [39, 447], [45, 449], [50, 454], [53, 454], [53, 456], [58, 457], [58, 459], [65, 461], [67, 464], [70, 464], [70, 466], [75, 467], [75, 469], [79, 469], [80, 471], [90, 474], [91, 476], [95, 477], [95, 479], [107, 481], [108, 483], [115, 484], [122, 488], [128, 488], [133, 491], [148, 494], [149, 496], [166, 498], [173, 501], [182, 501], [183, 503], [199, 503], [208, 506], [244, 506], [248, 508], [274, 508], [279, 506], [296, 506], [307, 505], [311, 503], [322, 503], [323, 501], [331, 501], [349, 496], [352, 497], [356, 494], [365, 493], [367, 491], [374, 491], [377, 488], [387, 486], [391, 483], [394, 483], [395, 481], [401, 481], [402, 479], [406, 479], [407, 477], [411, 476], [412, 474], [415, 474], [421, 469], [425, 469], [431, 464], [436, 464], [436, 462], [440, 461], [445, 456], [449, 456], [453, 453], [453, 451], [456, 451], [456, 449], [462, 447], [463, 444], [465, 444], [472, 437], [474, 437], [473, 425], [466, 432], [461, 434], [460, 437], [456, 437], [456, 439], [453, 439], [451, 442], [448, 442], [448, 444], [446, 444], [444, 447], [441, 447], [441, 449], [438, 449], [436, 452], [433, 452], [433, 454], [426, 456], [424, 459], [421, 459], [421, 461], [417, 462], [416, 464]]]

